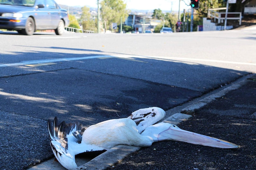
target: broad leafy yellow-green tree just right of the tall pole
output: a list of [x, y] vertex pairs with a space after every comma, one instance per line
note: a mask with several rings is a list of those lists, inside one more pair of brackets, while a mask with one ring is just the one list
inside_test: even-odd
[[[128, 16], [126, 4], [122, 0], [103, 0], [100, 2], [101, 16], [104, 22], [105, 30], [111, 28], [111, 24], [116, 22], [117, 25]], [[107, 25], [109, 27], [107, 27]], [[112, 29], [112, 28], [111, 28]]]

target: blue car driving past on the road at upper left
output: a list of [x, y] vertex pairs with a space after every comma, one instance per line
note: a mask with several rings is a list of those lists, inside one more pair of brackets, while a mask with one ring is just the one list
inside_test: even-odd
[[0, 0], [0, 29], [24, 35], [55, 30], [56, 35], [62, 35], [68, 25], [67, 10], [53, 0]]

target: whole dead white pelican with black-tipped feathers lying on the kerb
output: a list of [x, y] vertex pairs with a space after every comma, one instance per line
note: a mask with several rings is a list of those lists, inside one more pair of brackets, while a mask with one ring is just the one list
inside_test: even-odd
[[53, 128], [48, 121], [50, 145], [59, 163], [69, 170], [78, 167], [75, 155], [108, 150], [120, 144], [148, 147], [154, 142], [176, 140], [216, 148], [239, 148], [233, 143], [182, 130], [173, 124], [157, 123], [164, 116], [165, 111], [158, 107], [139, 109], [128, 118], [107, 120], [87, 129], [78, 122], [58, 125], [55, 117]]

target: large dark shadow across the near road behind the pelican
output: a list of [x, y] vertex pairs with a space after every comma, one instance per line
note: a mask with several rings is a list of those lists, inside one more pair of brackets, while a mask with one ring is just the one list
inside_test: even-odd
[[[42, 56], [56, 59], [94, 54], [31, 51], [9, 56], [18, 59], [20, 55], [42, 60]], [[0, 69], [1, 132], [15, 129], [14, 133], [24, 139], [21, 142], [2, 134], [1, 140], [13, 147], [19, 145], [20, 150], [6, 146], [3, 154], [12, 153], [12, 157], [5, 157], [1, 169], [23, 169], [52, 156], [50, 145], [45, 144], [46, 121], [54, 116], [66, 122], [79, 120], [88, 127], [127, 117], [140, 108], [158, 106], [167, 110], [248, 74], [197, 63], [131, 56]]]

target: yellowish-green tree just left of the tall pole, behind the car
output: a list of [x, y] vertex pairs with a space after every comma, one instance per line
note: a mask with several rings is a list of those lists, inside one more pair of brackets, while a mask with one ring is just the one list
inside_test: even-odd
[[91, 18], [90, 8], [86, 6], [82, 7], [82, 14], [80, 20], [82, 22], [84, 30], [92, 30], [94, 32], [97, 32], [97, 20], [93, 20], [93, 18]]

